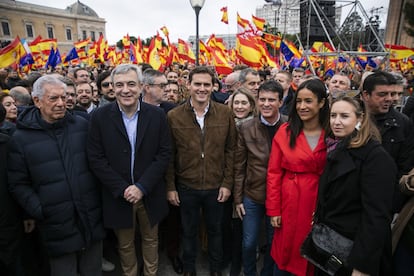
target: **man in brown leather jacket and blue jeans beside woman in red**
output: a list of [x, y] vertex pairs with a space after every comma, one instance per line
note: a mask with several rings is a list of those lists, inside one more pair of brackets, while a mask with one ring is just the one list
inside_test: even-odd
[[[283, 88], [274, 80], [259, 87], [259, 116], [240, 126], [235, 151], [234, 203], [243, 220], [243, 272], [256, 275], [256, 248], [261, 222], [266, 214], [266, 171], [272, 139], [286, 117], [279, 113]], [[273, 275], [270, 257], [273, 228], [266, 217], [267, 250], [261, 275]]]

